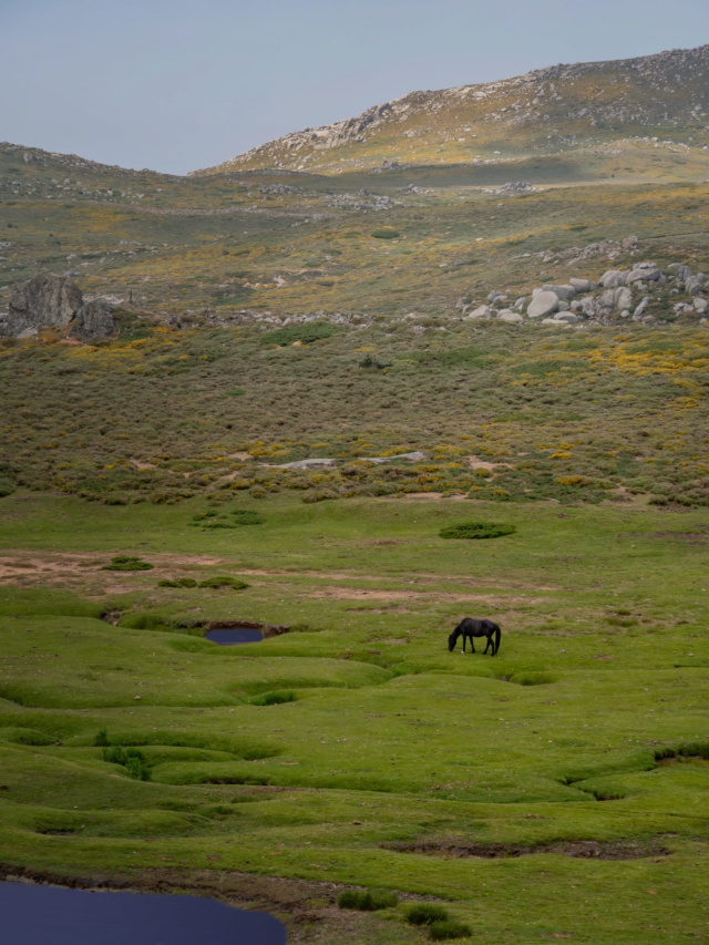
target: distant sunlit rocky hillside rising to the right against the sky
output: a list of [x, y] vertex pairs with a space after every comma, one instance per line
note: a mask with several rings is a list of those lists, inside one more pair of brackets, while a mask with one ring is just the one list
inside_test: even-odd
[[390, 161], [493, 163], [594, 148], [623, 137], [681, 151], [709, 145], [709, 45], [412, 92], [193, 174], [265, 167], [338, 174]]

